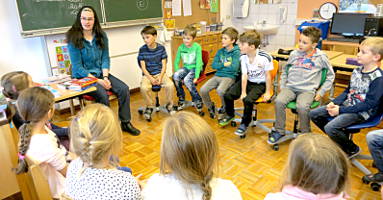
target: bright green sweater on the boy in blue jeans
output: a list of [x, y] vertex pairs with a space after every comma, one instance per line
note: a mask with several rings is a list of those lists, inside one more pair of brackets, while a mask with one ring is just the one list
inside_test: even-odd
[[196, 42], [190, 48], [185, 44], [181, 44], [178, 47], [176, 59], [174, 60], [174, 71], [179, 70], [181, 58], [183, 66], [189, 70], [195, 69], [194, 78], [199, 78], [203, 65], [201, 46]]

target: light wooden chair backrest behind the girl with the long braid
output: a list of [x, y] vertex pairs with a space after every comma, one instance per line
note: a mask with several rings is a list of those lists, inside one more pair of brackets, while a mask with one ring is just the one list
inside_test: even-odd
[[32, 199], [52, 199], [48, 180], [41, 171], [40, 166], [32, 160], [26, 159], [29, 166], [26, 179], [33, 197]]

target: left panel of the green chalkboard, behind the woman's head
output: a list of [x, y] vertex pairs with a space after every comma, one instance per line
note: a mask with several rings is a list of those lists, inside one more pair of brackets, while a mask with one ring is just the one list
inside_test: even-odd
[[[79, 8], [90, 5], [101, 16], [99, 0], [16, 0], [22, 32], [71, 26]], [[102, 19], [102, 18], [101, 18]]]

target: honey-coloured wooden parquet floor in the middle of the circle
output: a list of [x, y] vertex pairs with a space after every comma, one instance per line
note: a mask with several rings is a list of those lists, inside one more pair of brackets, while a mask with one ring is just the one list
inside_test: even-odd
[[[202, 84], [199, 85], [199, 87]], [[336, 94], [343, 89], [336, 88]], [[162, 93], [161, 93], [162, 94]], [[160, 95], [161, 96], [161, 95]], [[219, 98], [215, 91], [211, 92], [213, 101], [218, 102]], [[187, 97], [190, 99], [190, 96]], [[175, 101], [176, 102], [176, 101]], [[143, 116], [137, 112], [142, 106], [143, 99], [140, 93], [131, 95], [131, 111], [133, 124], [141, 130], [141, 135], [134, 137], [124, 134], [123, 152], [120, 160], [122, 166], [129, 166], [133, 169], [134, 175], [142, 174], [141, 179], [148, 179], [152, 174], [159, 172], [160, 161], [160, 142], [162, 135], [162, 123], [167, 117], [164, 113], [154, 113], [153, 120], [147, 122]], [[242, 102], [237, 101], [236, 106], [241, 107]], [[112, 109], [117, 113], [117, 101], [112, 102]], [[188, 108], [196, 112], [194, 108]], [[269, 192], [276, 192], [280, 189], [283, 168], [287, 159], [287, 151], [290, 142], [280, 145], [279, 151], [272, 150], [267, 144], [267, 134], [257, 127], [249, 129], [247, 137], [240, 139], [234, 135], [236, 128], [220, 128], [217, 120], [210, 119], [207, 109], [204, 108], [206, 115], [203, 117], [213, 128], [219, 140], [219, 172], [218, 177], [230, 179], [241, 191], [245, 200], [263, 199]], [[61, 114], [55, 117], [60, 125], [67, 126], [69, 121], [68, 114]], [[258, 106], [259, 119], [274, 119], [273, 104]], [[294, 116], [287, 111], [287, 129], [292, 129]], [[268, 125], [272, 126], [272, 124]], [[312, 130], [316, 133], [321, 131], [312, 124]], [[363, 130], [356, 134], [354, 140], [362, 148], [363, 153], [368, 153], [365, 134], [370, 131]], [[376, 172], [371, 167], [371, 161], [363, 161], [370, 170]], [[374, 192], [361, 181], [363, 174], [355, 167], [351, 167], [349, 195], [355, 200], [380, 199], [380, 193]]]

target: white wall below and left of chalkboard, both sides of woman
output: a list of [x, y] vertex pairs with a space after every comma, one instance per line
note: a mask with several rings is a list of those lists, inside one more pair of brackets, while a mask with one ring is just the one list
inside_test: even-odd
[[[48, 77], [50, 63], [56, 55], [48, 55], [43, 37], [23, 39], [16, 5], [14, 0], [0, 1], [0, 76], [22, 70], [31, 74], [34, 80]], [[137, 51], [143, 40], [140, 31], [144, 25], [123, 28], [106, 29], [109, 37], [109, 53], [111, 56], [111, 73], [129, 85], [131, 89], [138, 88], [141, 80], [141, 70], [137, 66]], [[63, 34], [47, 36], [46, 40], [64, 38]], [[169, 56], [168, 74], [171, 72], [170, 42], [165, 44]], [[125, 55], [130, 54], [130, 55]], [[54, 64], [54, 62], [53, 62]]]

